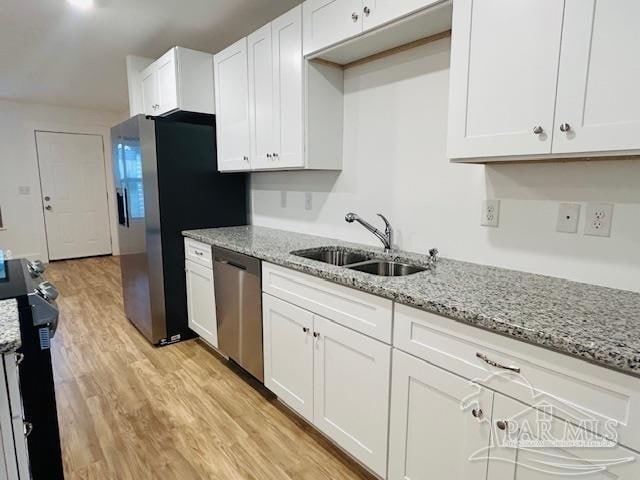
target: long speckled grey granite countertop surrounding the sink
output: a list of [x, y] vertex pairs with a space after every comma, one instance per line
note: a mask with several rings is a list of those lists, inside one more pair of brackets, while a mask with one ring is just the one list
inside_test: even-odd
[[340, 246], [424, 266], [429, 257], [257, 226], [183, 234], [640, 377], [640, 293], [446, 258], [407, 277], [378, 277], [290, 252]]

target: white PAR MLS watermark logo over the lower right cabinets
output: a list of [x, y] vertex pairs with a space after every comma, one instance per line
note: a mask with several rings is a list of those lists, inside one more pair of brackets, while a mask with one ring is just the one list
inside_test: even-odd
[[[501, 394], [495, 394], [491, 405], [482, 405], [483, 401], [491, 403], [484, 386], [505, 382], [515, 382], [528, 392], [527, 405]], [[626, 455], [627, 450], [616, 448], [616, 420], [540, 393], [519, 373], [491, 373], [470, 384], [475, 392], [461, 401], [460, 408], [490, 428], [488, 446], [469, 452], [469, 461], [511, 463], [547, 475], [572, 477], [613, 472], [618, 465], [636, 461], [635, 456]]]

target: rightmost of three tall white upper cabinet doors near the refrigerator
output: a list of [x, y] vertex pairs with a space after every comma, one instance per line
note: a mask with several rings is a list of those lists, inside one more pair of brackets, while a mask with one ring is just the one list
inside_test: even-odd
[[276, 168], [304, 167], [302, 7], [272, 22]]

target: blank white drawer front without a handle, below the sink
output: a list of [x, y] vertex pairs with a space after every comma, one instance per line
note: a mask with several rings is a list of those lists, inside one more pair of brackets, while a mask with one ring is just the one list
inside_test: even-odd
[[274, 297], [391, 343], [391, 300], [269, 263], [263, 264], [262, 289]]

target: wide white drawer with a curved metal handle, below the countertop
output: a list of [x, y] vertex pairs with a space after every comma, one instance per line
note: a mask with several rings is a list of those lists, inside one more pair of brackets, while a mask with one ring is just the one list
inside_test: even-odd
[[[394, 347], [528, 405], [640, 448], [640, 379], [404, 305], [396, 305]], [[484, 356], [483, 360], [479, 355]], [[519, 368], [520, 373], [488, 362]]]

